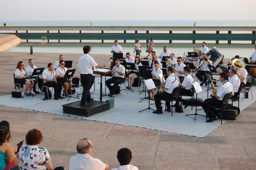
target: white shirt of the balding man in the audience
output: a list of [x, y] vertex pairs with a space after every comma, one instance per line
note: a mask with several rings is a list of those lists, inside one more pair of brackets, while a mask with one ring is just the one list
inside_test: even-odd
[[106, 164], [104, 164], [100, 159], [93, 158], [89, 154], [78, 153], [71, 157], [69, 161], [69, 170], [104, 170], [105, 168]]

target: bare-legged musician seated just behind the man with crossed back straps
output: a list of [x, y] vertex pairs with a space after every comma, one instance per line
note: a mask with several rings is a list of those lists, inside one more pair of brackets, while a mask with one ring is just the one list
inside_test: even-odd
[[[163, 71], [161, 68], [159, 68], [159, 63], [157, 61], [154, 62], [154, 69], [153, 71], [151, 72], [151, 75], [152, 75], [152, 78], [153, 78], [153, 82], [155, 84], [155, 86], [161, 86], [161, 82], [160, 82], [160, 79], [159, 79], [159, 75], [163, 75]], [[148, 91], [148, 97], [147, 98], [150, 98], [150, 99], [154, 99], [154, 96], [156, 94], [156, 91], [155, 89], [151, 89]]]

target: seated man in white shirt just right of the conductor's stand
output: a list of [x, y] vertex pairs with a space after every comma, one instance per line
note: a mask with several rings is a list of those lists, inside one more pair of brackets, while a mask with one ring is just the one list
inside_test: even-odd
[[[115, 66], [112, 69], [113, 77], [106, 80], [106, 86], [109, 89], [108, 96], [113, 97], [113, 95], [116, 93], [116, 90], [119, 84], [124, 82], [124, 76], [125, 76], [125, 67], [120, 64], [120, 60], [117, 59], [115, 61]], [[113, 85], [111, 85], [113, 84]]]

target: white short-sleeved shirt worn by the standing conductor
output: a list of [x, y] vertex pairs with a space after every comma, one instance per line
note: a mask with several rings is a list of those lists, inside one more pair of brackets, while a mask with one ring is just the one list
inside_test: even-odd
[[93, 74], [93, 67], [96, 67], [98, 64], [89, 54], [82, 55], [79, 60], [77, 67], [79, 68], [80, 74]]

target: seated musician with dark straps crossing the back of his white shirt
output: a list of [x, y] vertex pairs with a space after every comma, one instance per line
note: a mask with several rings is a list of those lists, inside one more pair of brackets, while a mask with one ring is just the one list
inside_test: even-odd
[[[153, 111], [154, 114], [163, 114], [161, 100], [170, 100], [172, 98], [172, 91], [175, 87], [179, 86], [179, 78], [174, 75], [174, 68], [168, 67], [167, 74], [169, 75], [166, 79], [163, 93], [157, 93], [155, 95], [155, 104], [156, 111]], [[171, 112], [171, 104], [170, 101], [166, 101], [167, 111]]]

